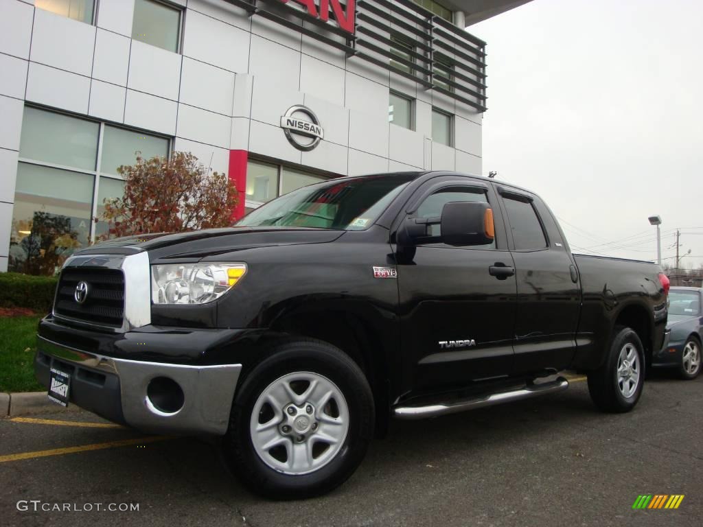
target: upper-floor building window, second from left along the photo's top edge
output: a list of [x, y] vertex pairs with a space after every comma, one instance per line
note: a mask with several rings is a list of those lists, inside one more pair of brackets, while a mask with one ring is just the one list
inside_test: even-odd
[[132, 38], [177, 53], [180, 30], [180, 9], [155, 0], [134, 2]]

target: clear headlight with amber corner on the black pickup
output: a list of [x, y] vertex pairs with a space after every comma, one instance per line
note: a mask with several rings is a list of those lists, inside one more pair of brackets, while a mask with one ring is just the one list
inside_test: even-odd
[[154, 304], [207, 304], [228, 292], [246, 272], [246, 263], [151, 266], [151, 299]]

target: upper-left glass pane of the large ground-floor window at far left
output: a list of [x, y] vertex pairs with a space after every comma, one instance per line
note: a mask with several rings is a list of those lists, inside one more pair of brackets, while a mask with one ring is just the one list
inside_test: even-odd
[[25, 106], [20, 157], [95, 170], [100, 124]]

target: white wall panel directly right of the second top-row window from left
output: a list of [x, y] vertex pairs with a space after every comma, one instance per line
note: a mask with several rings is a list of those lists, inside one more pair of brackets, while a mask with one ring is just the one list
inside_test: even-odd
[[183, 55], [232, 72], [247, 72], [249, 33], [196, 11], [187, 14]]

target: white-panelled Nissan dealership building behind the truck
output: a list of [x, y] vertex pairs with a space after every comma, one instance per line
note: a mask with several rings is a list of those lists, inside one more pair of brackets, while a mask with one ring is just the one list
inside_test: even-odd
[[0, 271], [104, 232], [138, 153], [226, 173], [234, 217], [323, 178], [480, 174], [465, 27], [525, 1], [0, 0]]

